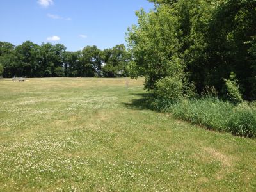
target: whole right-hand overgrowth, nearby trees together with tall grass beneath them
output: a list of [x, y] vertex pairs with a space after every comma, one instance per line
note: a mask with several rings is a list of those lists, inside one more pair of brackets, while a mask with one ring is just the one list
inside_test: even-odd
[[[255, 137], [256, 1], [151, 0], [127, 33], [131, 77], [151, 106], [209, 129]], [[206, 95], [206, 97], [205, 97]]]

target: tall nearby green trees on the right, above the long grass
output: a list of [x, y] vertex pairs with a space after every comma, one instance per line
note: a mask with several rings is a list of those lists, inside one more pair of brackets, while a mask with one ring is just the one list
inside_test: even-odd
[[256, 99], [255, 0], [149, 1], [154, 10], [136, 12], [127, 32], [131, 77], [167, 99], [210, 90]]

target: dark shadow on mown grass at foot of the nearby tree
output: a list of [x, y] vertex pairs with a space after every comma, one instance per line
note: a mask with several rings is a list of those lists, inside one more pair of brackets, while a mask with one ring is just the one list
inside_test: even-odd
[[136, 109], [136, 110], [152, 110], [149, 103], [150, 93], [140, 93], [140, 94], [131, 94], [139, 96], [138, 99], [132, 99], [132, 102], [125, 103], [123, 102], [124, 106], [129, 109]]

